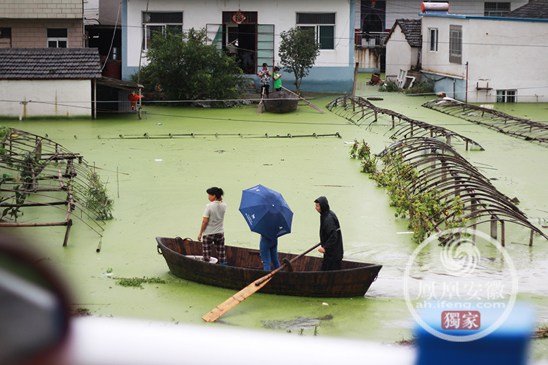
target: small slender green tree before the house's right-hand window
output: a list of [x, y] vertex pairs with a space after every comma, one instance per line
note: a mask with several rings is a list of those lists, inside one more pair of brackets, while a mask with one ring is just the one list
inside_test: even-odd
[[308, 75], [320, 54], [320, 45], [314, 38], [314, 29], [303, 30], [295, 27], [280, 33], [279, 36], [282, 37], [279, 59], [284, 71], [295, 75], [295, 87], [299, 94], [303, 77]]

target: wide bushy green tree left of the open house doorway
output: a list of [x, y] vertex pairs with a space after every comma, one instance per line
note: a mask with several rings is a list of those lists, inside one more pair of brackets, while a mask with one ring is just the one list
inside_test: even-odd
[[161, 89], [169, 100], [238, 99], [241, 69], [207, 41], [206, 29], [155, 34], [147, 51], [149, 64], [141, 70], [145, 91]]

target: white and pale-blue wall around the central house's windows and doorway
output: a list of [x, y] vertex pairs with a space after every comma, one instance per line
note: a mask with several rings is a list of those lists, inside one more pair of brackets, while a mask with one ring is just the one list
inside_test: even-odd
[[[123, 60], [122, 78], [138, 71], [140, 45], [142, 40], [142, 12], [147, 9], [147, 0], [123, 1], [123, 19], [127, 27], [122, 29]], [[349, 93], [353, 82], [353, 43], [354, 43], [354, 0], [334, 1], [176, 1], [163, 0], [149, 2], [149, 11], [182, 11], [183, 28], [201, 29], [207, 24], [221, 24], [223, 11], [258, 12], [259, 24], [273, 24], [275, 33], [275, 61], [279, 64], [279, 34], [296, 25], [297, 12], [336, 12], [334, 50], [323, 49], [316, 59], [308, 77], [303, 79], [301, 90], [316, 92]], [[147, 64], [146, 54], [142, 54], [142, 65]], [[287, 73], [284, 87], [292, 86], [294, 77]]]

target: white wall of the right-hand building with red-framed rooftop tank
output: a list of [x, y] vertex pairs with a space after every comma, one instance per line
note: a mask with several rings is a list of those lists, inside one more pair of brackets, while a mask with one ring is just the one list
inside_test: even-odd
[[[449, 62], [449, 25], [462, 25], [462, 64]], [[424, 16], [423, 44], [427, 44], [425, 29], [436, 27], [438, 52], [423, 47], [423, 72], [438, 75], [437, 78], [463, 80], [454, 90], [456, 99], [495, 103], [497, 90], [517, 90], [519, 102], [548, 101], [548, 65], [543, 62], [548, 58], [545, 47], [548, 21]], [[493, 90], [477, 90], [480, 79], [488, 80]], [[443, 90], [441, 85], [436, 83], [436, 91], [453, 92]]]

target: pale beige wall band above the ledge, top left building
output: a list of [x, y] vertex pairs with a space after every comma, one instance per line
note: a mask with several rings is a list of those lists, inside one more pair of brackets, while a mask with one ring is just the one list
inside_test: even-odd
[[0, 0], [2, 18], [82, 19], [82, 0]]

